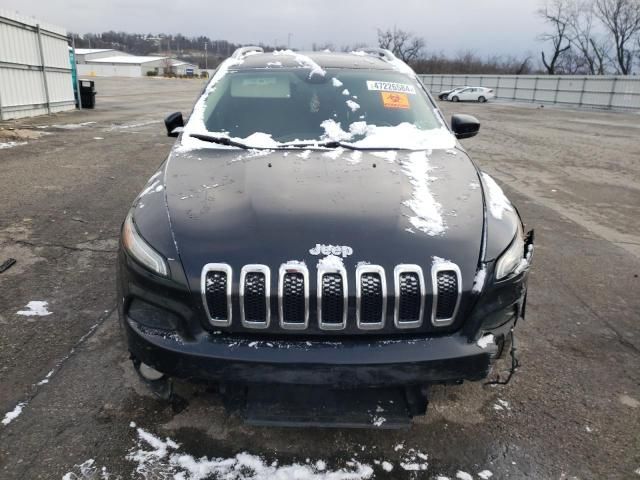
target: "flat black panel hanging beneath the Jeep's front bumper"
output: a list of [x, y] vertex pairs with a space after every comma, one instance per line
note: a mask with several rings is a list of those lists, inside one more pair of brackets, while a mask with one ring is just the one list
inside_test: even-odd
[[255, 426], [405, 429], [428, 404], [426, 387], [224, 384], [220, 392], [228, 411]]

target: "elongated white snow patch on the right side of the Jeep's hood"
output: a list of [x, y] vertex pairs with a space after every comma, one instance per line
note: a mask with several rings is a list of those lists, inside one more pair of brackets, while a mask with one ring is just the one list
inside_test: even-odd
[[413, 185], [413, 196], [403, 204], [414, 213], [409, 217], [411, 225], [427, 235], [435, 236], [444, 233], [446, 227], [441, 213], [442, 206], [429, 190], [430, 170], [426, 152], [409, 154], [408, 160], [402, 164], [402, 172]]

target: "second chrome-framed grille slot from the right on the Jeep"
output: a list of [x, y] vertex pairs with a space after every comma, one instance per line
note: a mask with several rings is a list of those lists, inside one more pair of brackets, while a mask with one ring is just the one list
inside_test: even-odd
[[[393, 270], [393, 277], [396, 295], [394, 312], [396, 328], [418, 328], [422, 326], [425, 300], [422, 268], [419, 265], [398, 265]], [[409, 305], [409, 302], [413, 303], [413, 305]]]

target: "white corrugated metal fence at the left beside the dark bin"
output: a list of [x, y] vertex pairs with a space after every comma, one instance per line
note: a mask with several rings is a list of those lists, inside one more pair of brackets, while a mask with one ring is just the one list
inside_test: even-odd
[[0, 120], [74, 108], [66, 30], [0, 10]]

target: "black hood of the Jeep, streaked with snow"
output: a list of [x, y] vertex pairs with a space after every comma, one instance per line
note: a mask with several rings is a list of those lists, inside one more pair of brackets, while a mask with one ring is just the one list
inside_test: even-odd
[[477, 170], [460, 150], [177, 148], [165, 189], [193, 291], [207, 263], [277, 271], [296, 260], [311, 271], [328, 253], [318, 245], [341, 247], [332, 251], [347, 271], [360, 262], [387, 272], [408, 263], [427, 274], [439, 257], [458, 264], [464, 290], [473, 284], [484, 207]]

